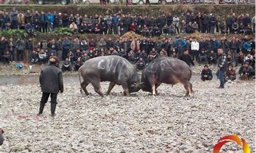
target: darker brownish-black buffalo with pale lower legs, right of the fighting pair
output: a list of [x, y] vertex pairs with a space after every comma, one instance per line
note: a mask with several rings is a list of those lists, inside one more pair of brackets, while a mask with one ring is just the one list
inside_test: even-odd
[[180, 82], [184, 85], [187, 96], [193, 92], [189, 82], [191, 74], [192, 71], [185, 62], [172, 57], [160, 57], [144, 68], [139, 86], [143, 91], [156, 95], [157, 87], [162, 83], [175, 85]]

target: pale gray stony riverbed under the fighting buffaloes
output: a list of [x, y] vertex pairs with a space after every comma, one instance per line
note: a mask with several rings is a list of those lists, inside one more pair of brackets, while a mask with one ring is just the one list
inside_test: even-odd
[[[182, 85], [161, 85], [160, 95], [139, 91], [131, 97], [116, 86], [99, 97], [88, 86], [65, 82], [58, 94], [57, 116], [50, 105], [36, 116], [41, 92], [36, 84], [0, 86], [0, 152], [212, 152], [225, 135], [238, 135], [255, 152], [255, 82], [192, 81], [194, 94]], [[106, 91], [109, 83], [102, 83]], [[223, 146], [222, 152], [240, 150]]]

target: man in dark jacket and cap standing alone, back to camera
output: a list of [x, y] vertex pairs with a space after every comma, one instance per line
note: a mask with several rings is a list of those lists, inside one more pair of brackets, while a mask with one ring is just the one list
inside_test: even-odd
[[50, 65], [42, 69], [40, 73], [39, 82], [41, 85], [42, 97], [40, 101], [39, 113], [41, 115], [44, 111], [45, 104], [51, 94], [51, 114], [55, 116], [55, 109], [57, 104], [57, 93], [63, 92], [63, 79], [61, 69], [57, 67], [58, 58], [51, 56], [49, 58]]

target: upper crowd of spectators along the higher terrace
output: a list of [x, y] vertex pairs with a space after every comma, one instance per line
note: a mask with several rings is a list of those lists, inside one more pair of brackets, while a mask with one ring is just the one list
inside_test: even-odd
[[221, 17], [215, 13], [162, 14], [157, 17], [135, 15], [131, 13], [87, 15], [67, 14], [65, 12], [19, 12], [12, 8], [10, 12], [0, 11], [0, 28], [23, 29], [33, 32], [52, 32], [58, 27], [70, 28], [75, 33], [123, 35], [134, 31], [145, 37], [174, 35], [179, 33], [222, 33], [245, 34], [255, 32], [255, 16], [247, 14]]

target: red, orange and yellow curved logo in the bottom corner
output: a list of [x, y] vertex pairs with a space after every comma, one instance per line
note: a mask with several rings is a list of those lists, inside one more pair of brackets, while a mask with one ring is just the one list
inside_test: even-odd
[[240, 138], [236, 135], [228, 135], [225, 137], [222, 137], [218, 143], [214, 146], [214, 153], [219, 153], [221, 147], [227, 143], [227, 142], [237, 142], [238, 145], [243, 146], [243, 153], [250, 153], [250, 148], [249, 145], [245, 142], [245, 140], [243, 138]]

